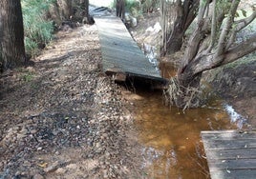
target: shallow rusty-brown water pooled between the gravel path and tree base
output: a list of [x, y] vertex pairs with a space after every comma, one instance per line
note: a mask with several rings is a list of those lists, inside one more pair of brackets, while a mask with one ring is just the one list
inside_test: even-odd
[[236, 129], [224, 109], [170, 109], [156, 92], [143, 91], [138, 99], [136, 125], [146, 178], [207, 178], [200, 132]]

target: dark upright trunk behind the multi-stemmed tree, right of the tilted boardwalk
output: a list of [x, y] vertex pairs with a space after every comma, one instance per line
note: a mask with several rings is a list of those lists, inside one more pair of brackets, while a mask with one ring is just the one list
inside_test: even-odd
[[162, 47], [161, 56], [181, 50], [185, 31], [196, 17], [199, 0], [161, 0]]

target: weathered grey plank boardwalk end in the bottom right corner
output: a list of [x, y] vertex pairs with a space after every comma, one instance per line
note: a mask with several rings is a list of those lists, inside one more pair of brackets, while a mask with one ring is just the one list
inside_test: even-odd
[[256, 130], [202, 131], [212, 179], [256, 178]]

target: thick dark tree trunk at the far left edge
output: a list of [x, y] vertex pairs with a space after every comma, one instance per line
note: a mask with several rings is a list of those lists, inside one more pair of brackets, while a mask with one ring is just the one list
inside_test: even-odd
[[3, 69], [12, 69], [25, 63], [20, 0], [0, 1], [0, 48]]

